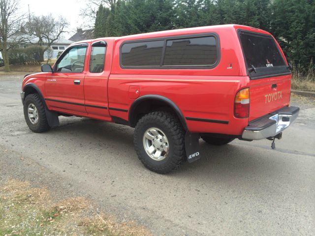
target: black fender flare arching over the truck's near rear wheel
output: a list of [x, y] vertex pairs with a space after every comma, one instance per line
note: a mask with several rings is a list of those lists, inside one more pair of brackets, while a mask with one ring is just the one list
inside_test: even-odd
[[129, 121], [129, 124], [131, 127], [135, 126], [135, 122], [136, 122], [135, 118], [136, 117], [134, 116], [134, 112], [136, 111], [137, 106], [145, 100], [158, 100], [158, 101], [165, 102], [167, 105], [169, 105], [174, 110], [174, 112], [176, 113], [176, 115], [180, 119], [184, 129], [188, 130], [185, 117], [183, 116], [183, 114], [182, 114], [181, 110], [178, 108], [178, 106], [169, 98], [161, 96], [161, 95], [155, 95], [155, 94], [143, 95], [143, 96], [138, 97], [136, 100], [133, 101], [133, 103], [130, 106], [129, 114], [128, 114], [128, 121]]

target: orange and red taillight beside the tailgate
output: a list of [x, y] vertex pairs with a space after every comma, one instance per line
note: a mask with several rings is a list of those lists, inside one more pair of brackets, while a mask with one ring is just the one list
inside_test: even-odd
[[250, 114], [250, 88], [241, 89], [236, 93], [234, 100], [234, 116], [248, 118]]

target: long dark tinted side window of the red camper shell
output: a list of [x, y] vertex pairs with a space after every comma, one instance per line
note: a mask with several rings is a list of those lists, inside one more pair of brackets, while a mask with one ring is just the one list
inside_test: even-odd
[[219, 60], [215, 33], [126, 41], [120, 47], [122, 68], [213, 68]]

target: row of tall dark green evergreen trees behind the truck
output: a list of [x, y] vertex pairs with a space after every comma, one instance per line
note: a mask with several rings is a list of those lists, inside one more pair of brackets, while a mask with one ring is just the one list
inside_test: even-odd
[[314, 61], [314, 0], [118, 0], [99, 6], [95, 37], [221, 24], [265, 29], [289, 61], [305, 68]]

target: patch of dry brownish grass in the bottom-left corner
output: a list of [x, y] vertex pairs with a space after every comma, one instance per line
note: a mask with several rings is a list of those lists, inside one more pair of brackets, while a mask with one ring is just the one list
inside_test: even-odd
[[47, 188], [11, 179], [0, 189], [1, 236], [151, 236], [134, 222], [118, 222], [97, 212], [91, 201], [75, 197], [55, 202]]

